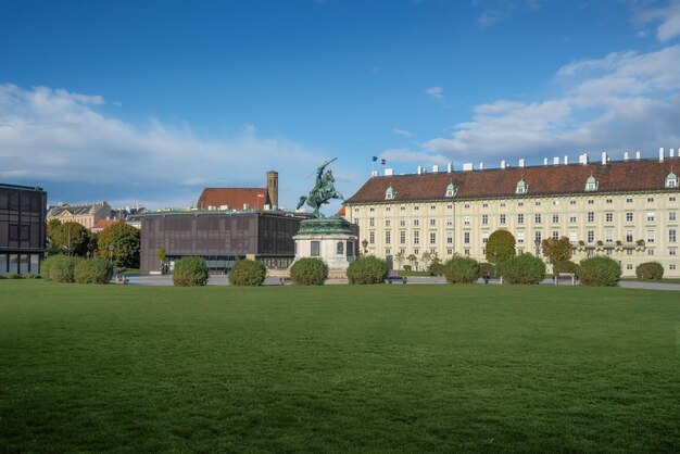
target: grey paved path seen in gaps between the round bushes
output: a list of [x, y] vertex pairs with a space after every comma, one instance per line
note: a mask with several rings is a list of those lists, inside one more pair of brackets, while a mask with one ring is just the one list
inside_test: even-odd
[[[134, 286], [172, 286], [173, 277], [172, 276], [150, 276], [150, 275], [139, 275], [139, 276], [128, 276], [128, 283]], [[112, 281], [113, 282], [113, 281]], [[207, 280], [209, 286], [227, 286], [229, 283], [226, 276], [213, 275]], [[347, 279], [329, 279], [327, 285], [345, 285], [348, 283]], [[446, 283], [446, 280], [443, 277], [439, 276], [410, 276], [406, 281], [407, 285], [423, 285], [423, 283]], [[483, 279], [479, 279], [477, 283], [483, 285]], [[499, 285], [501, 283], [499, 279], [490, 279], [489, 285]], [[279, 278], [267, 277], [264, 281], [265, 286], [280, 286], [281, 281]], [[286, 285], [290, 285], [290, 281], [286, 281]], [[393, 286], [401, 286], [402, 282], [394, 282]], [[552, 279], [544, 279], [541, 285], [553, 285]], [[664, 283], [664, 282], [641, 282], [637, 280], [621, 280], [619, 282], [619, 287], [625, 289], [646, 289], [646, 290], [675, 290], [680, 291], [680, 283]]]

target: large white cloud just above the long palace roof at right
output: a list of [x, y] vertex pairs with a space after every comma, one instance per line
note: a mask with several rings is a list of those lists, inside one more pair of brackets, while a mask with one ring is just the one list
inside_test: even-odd
[[[653, 150], [680, 143], [680, 46], [613, 53], [570, 63], [555, 80], [562, 94], [533, 102], [499, 100], [475, 108], [451, 137], [427, 150], [451, 157], [542, 157], [582, 151]], [[659, 142], [660, 141], [660, 142]]]

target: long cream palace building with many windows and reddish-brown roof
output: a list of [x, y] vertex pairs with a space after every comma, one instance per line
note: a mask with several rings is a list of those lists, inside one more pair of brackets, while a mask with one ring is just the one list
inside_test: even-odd
[[374, 172], [348, 200], [345, 217], [358, 225], [365, 253], [392, 256], [396, 267], [410, 264], [410, 255], [420, 268], [435, 255], [484, 262], [489, 236], [504, 229], [514, 235], [517, 253], [541, 256], [541, 240], [564, 236], [575, 262], [606, 254], [630, 277], [637, 265], [657, 261], [665, 277], [680, 277], [680, 159], [672, 149], [668, 154], [660, 149], [654, 160], [638, 152], [610, 161], [602, 153], [593, 163], [582, 154], [577, 164], [565, 157], [541, 166], [520, 160], [517, 167], [503, 161], [492, 169], [465, 164], [453, 172], [449, 164], [444, 172], [418, 167], [415, 175]]

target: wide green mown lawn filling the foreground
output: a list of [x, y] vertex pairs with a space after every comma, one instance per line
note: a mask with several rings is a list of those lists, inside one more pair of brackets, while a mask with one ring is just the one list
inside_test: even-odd
[[680, 451], [680, 295], [0, 280], [0, 452]]

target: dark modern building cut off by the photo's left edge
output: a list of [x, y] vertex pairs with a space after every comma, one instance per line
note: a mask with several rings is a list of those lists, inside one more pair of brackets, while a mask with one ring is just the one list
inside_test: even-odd
[[47, 192], [0, 184], [0, 275], [40, 273], [47, 244]]

